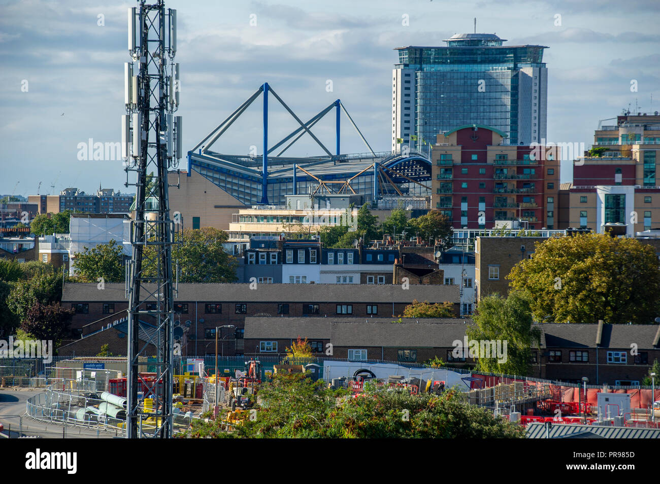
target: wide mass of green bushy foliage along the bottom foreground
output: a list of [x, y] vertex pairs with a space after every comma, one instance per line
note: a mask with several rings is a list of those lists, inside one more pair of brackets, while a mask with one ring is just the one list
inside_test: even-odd
[[[416, 394], [365, 385], [359, 398], [301, 373], [277, 373], [259, 389], [256, 418], [220, 431], [219, 419], [194, 421], [187, 437], [523, 438], [524, 429], [471, 406], [456, 392]], [[405, 417], [403, 417], [405, 416]]]

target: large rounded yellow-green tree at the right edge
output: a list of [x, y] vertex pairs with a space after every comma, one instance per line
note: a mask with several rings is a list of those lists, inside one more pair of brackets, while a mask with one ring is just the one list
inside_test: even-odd
[[508, 276], [536, 321], [651, 323], [660, 313], [655, 249], [634, 238], [579, 234], [537, 242]]

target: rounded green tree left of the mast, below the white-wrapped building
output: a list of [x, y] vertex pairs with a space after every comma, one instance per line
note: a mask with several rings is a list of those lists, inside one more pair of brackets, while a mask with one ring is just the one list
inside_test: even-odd
[[73, 267], [81, 282], [96, 282], [99, 277], [105, 282], [123, 282], [123, 247], [116, 240], [91, 249], [84, 247], [73, 259]]

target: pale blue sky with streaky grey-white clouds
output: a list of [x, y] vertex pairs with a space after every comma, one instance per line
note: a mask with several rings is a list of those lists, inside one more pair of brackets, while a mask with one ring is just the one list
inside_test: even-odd
[[[71, 186], [90, 193], [99, 184], [135, 191], [124, 186], [121, 159], [81, 161], [78, 153], [90, 139], [121, 139], [127, 7], [136, 5], [0, 0], [0, 194]], [[475, 16], [477, 32], [497, 34], [505, 45], [549, 47], [548, 142], [588, 149], [599, 120], [636, 106], [660, 111], [657, 0], [170, 0], [166, 7], [177, 9], [185, 151], [263, 82], [305, 121], [341, 99], [374, 151], [387, 151], [393, 49], [446, 45], [453, 34], [473, 32]], [[274, 101], [273, 141], [298, 126]], [[332, 151], [334, 118], [313, 131]], [[247, 154], [261, 136], [255, 101], [214, 150]], [[346, 119], [341, 138], [343, 152], [367, 151]], [[321, 153], [308, 136], [298, 143], [288, 154]], [[572, 179], [570, 162], [561, 178]]]

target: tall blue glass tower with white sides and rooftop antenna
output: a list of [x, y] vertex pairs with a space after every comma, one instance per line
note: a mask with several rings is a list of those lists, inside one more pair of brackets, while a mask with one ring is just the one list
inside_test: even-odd
[[[426, 151], [436, 135], [484, 124], [529, 145], [546, 137], [543, 45], [502, 45], [494, 34], [456, 34], [446, 47], [397, 47], [392, 149]], [[424, 144], [426, 142], [426, 144]]]

